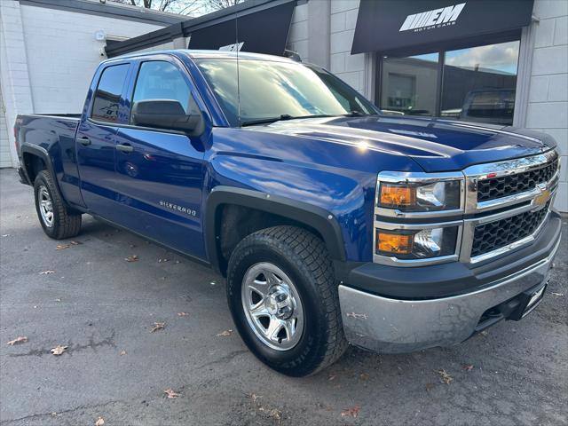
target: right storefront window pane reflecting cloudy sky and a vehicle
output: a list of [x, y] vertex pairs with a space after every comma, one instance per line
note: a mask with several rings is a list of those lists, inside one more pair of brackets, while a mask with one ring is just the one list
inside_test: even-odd
[[440, 115], [512, 124], [519, 42], [446, 51]]

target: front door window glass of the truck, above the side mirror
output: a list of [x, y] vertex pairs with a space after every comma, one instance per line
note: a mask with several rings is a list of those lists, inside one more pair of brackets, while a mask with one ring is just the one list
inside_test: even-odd
[[[143, 100], [177, 100], [185, 114], [195, 114], [197, 104], [182, 73], [169, 62], [153, 60], [140, 65], [132, 109]], [[130, 124], [132, 117], [130, 116]]]

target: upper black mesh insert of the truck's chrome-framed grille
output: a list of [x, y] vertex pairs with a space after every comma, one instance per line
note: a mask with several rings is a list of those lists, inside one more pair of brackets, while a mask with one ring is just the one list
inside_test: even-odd
[[489, 201], [523, 193], [536, 185], [548, 182], [558, 169], [558, 160], [549, 162], [540, 169], [528, 170], [514, 175], [480, 179], [477, 181], [477, 201]]

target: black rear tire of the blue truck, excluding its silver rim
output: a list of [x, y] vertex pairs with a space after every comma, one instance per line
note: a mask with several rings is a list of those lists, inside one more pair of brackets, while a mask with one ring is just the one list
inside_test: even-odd
[[[43, 217], [38, 194], [45, 188], [51, 197], [52, 219], [51, 224]], [[75, 237], [81, 231], [81, 213], [69, 209], [51, 174], [47, 170], [37, 173], [34, 181], [34, 196], [36, 199], [36, 212], [43, 232], [55, 240]]]

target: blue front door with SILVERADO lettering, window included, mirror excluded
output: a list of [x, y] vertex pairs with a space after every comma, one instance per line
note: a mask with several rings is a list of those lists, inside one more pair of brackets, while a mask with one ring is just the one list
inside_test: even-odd
[[[161, 58], [135, 65], [130, 106], [149, 99], [174, 99], [184, 106], [185, 113], [201, 110], [185, 69], [175, 59]], [[183, 132], [138, 127], [131, 122], [121, 126], [116, 134], [114, 185], [122, 225], [204, 259], [201, 193], [205, 167], [200, 146], [201, 138], [190, 138]]]

